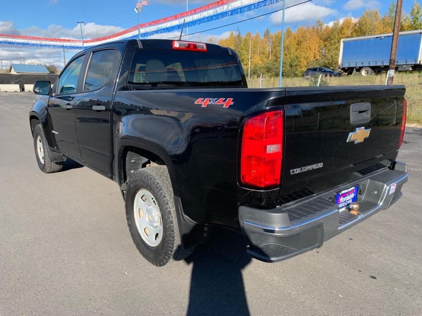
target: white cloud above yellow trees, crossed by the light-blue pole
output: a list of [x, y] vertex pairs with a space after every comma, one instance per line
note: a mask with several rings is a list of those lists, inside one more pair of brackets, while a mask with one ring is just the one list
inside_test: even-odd
[[[323, 19], [326, 16], [335, 15], [337, 13], [338, 12], [332, 8], [327, 8], [322, 5], [316, 5], [314, 3], [308, 2], [286, 9], [284, 21], [286, 23], [300, 21], [316, 21], [318, 19]], [[281, 24], [282, 16], [282, 11], [271, 14], [271, 23]]]

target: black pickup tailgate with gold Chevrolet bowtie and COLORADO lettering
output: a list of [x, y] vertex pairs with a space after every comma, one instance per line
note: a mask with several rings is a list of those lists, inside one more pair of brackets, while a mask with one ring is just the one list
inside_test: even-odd
[[286, 88], [286, 92], [281, 204], [362, 177], [395, 160], [404, 86]]

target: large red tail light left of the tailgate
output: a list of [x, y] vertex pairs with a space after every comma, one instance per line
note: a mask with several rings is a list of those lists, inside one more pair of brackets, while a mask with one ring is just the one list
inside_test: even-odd
[[283, 150], [283, 111], [249, 118], [243, 127], [241, 182], [256, 187], [280, 184]]

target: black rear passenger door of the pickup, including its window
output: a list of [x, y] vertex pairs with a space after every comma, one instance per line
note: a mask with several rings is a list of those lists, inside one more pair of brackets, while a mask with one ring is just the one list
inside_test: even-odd
[[[114, 82], [109, 78], [115, 49], [94, 51], [88, 62], [83, 89], [75, 104], [75, 123], [82, 161], [106, 174], [111, 174], [111, 100]], [[89, 57], [88, 57], [89, 58]], [[113, 67], [114, 66], [114, 67]]]

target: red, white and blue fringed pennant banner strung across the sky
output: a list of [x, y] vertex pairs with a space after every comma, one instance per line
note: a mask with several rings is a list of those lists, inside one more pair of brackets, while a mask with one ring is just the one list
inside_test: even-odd
[[[249, 12], [258, 8], [265, 7], [274, 3], [281, 2], [281, 0], [220, 0], [202, 7], [169, 16], [164, 19], [159, 19], [144, 24], [140, 24], [141, 37], [151, 36], [154, 34], [173, 32], [181, 29], [183, 21], [185, 27], [191, 27], [203, 23], [208, 23], [223, 19], [227, 16], [234, 16], [236, 14]], [[122, 32], [99, 37], [90, 40], [84, 40], [84, 47], [90, 47], [98, 44], [103, 44], [113, 40], [122, 40], [128, 38], [138, 37], [138, 26], [125, 29]], [[12, 46], [32, 46], [45, 48], [70, 48], [82, 49], [80, 40], [68, 40], [64, 38], [45, 38], [45, 37], [31, 37], [19, 35], [0, 34], [0, 45]]]

